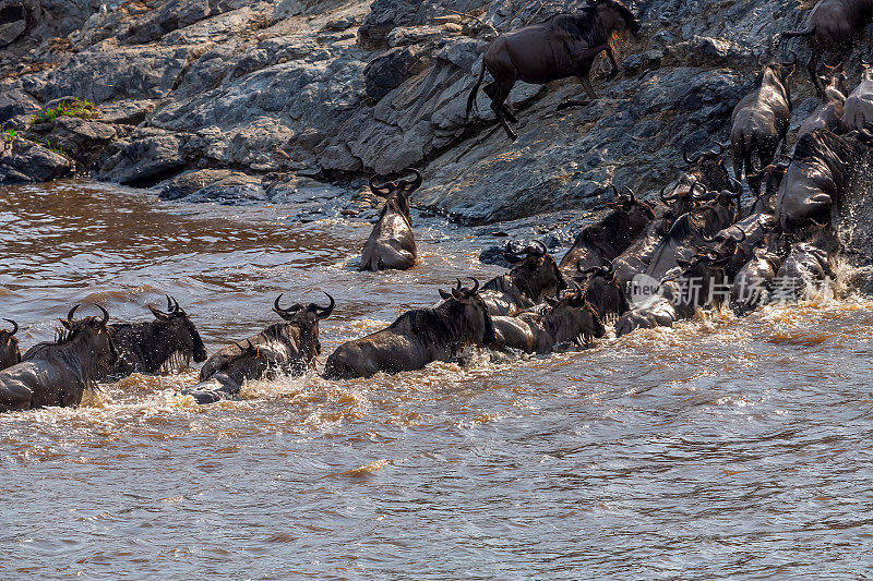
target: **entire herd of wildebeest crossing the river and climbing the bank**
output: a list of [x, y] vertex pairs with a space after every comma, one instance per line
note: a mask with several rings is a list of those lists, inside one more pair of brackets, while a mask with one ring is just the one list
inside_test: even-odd
[[[614, 324], [618, 336], [638, 328], [670, 326], [698, 308], [729, 304], [742, 315], [775, 300], [796, 299], [803, 288], [834, 275], [840, 247], [833, 218], [873, 152], [873, 69], [846, 97], [845, 62], [854, 40], [873, 20], [873, 0], [822, 0], [802, 31], [808, 69], [820, 106], [801, 126], [788, 153], [792, 102], [789, 80], [798, 62], [761, 61], [752, 90], [732, 116], [728, 146], [683, 156], [687, 167], [673, 185], [646, 202], [613, 186], [611, 211], [587, 225], [559, 262], [541, 242], [510, 243], [512, 268], [480, 285], [461, 279], [430, 308], [404, 313], [382, 330], [339, 346], [326, 360], [331, 379], [369, 377], [452, 361], [468, 346], [546, 353], [559, 344], [584, 346]], [[513, 112], [505, 104], [516, 81], [547, 83], [577, 76], [590, 99], [588, 75], [606, 52], [612, 73], [617, 40], [638, 34], [641, 23], [617, 0], [589, 0], [576, 14], [498, 37], [488, 47], [470, 93], [467, 114], [485, 87], [498, 122], [511, 138]], [[825, 77], [820, 77], [824, 71]], [[752, 199], [742, 203], [743, 180]], [[407, 269], [417, 262], [409, 196], [423, 183], [420, 172], [373, 177], [371, 191], [384, 207], [363, 246], [360, 269]], [[298, 376], [321, 352], [319, 323], [336, 304], [296, 303], [273, 311], [282, 319], [211, 358], [188, 313], [170, 296], [167, 310], [150, 306], [150, 323], [109, 325], [109, 314], [76, 319], [79, 305], [60, 320], [56, 340], [24, 355], [19, 325], [0, 330], [0, 411], [77, 404], [96, 382], [132, 373], [162, 373], [204, 362], [199, 383], [182, 391], [200, 403], [235, 398], [247, 380]]]

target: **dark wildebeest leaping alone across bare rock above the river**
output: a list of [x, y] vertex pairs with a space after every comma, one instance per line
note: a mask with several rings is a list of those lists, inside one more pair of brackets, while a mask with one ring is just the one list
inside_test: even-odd
[[516, 82], [542, 85], [576, 76], [590, 100], [597, 98], [589, 78], [596, 57], [606, 51], [612, 65], [610, 78], [621, 71], [615, 61], [615, 45], [641, 24], [627, 7], [618, 0], [588, 0], [589, 5], [575, 14], [557, 14], [541, 24], [533, 24], [503, 34], [491, 41], [482, 57], [482, 71], [467, 99], [467, 114], [486, 71], [493, 82], [483, 88], [491, 98], [491, 109], [512, 141], [517, 138], [510, 121], [517, 122], [505, 105]]

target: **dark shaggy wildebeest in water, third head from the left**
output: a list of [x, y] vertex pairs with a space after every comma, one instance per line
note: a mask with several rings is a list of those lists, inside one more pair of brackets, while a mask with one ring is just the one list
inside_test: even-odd
[[172, 364], [206, 361], [206, 348], [198, 328], [178, 301], [167, 295], [167, 312], [148, 306], [155, 320], [116, 323], [109, 332], [118, 351], [118, 362], [106, 376], [127, 377], [132, 373], [156, 373]]

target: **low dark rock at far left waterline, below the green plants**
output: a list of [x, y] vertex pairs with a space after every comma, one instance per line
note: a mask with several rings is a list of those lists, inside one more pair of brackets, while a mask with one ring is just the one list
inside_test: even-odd
[[0, 184], [47, 182], [67, 175], [72, 164], [65, 157], [27, 140], [0, 135]]

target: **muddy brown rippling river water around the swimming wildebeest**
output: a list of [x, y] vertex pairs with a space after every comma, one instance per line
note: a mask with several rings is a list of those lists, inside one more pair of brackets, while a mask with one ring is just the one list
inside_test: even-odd
[[[422, 264], [359, 274], [369, 226], [162, 204], [65, 182], [0, 192], [0, 316], [23, 343], [80, 301], [145, 319], [174, 294], [210, 349], [272, 299], [338, 302], [330, 352], [483, 241], [417, 228]], [[491, 243], [491, 241], [488, 241]], [[195, 372], [0, 416], [3, 578], [858, 578], [873, 549], [873, 302], [822, 296], [547, 358], [254, 383]]]

